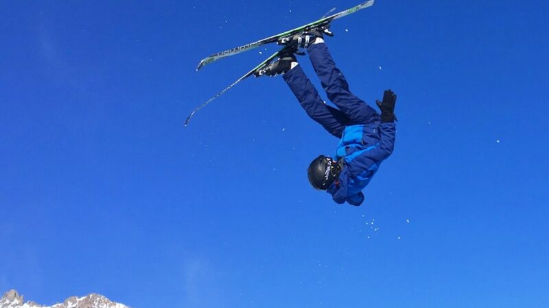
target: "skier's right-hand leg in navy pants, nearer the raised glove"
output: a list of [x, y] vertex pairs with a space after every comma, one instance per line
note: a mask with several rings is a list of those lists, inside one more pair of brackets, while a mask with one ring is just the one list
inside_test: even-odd
[[325, 43], [312, 44], [307, 48], [307, 51], [328, 99], [347, 115], [349, 125], [379, 121], [379, 114], [349, 91], [349, 84], [339, 68], [336, 67]]

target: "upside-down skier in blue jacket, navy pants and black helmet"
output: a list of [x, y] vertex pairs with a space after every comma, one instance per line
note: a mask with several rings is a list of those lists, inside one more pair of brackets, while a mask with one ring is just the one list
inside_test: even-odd
[[[334, 158], [320, 155], [311, 162], [307, 170], [309, 182], [318, 190], [326, 190], [336, 203], [347, 201], [358, 206], [364, 201], [362, 189], [393, 153], [397, 96], [391, 90], [384, 92], [382, 101], [376, 101], [381, 114], [355, 97], [336, 67], [323, 34], [333, 35], [327, 27], [319, 27], [279, 41], [287, 44], [288, 51], [255, 75], [283, 75], [305, 112], [340, 138]], [[326, 105], [303, 73], [294, 55], [300, 47], [307, 49], [329, 100], [339, 109]]]

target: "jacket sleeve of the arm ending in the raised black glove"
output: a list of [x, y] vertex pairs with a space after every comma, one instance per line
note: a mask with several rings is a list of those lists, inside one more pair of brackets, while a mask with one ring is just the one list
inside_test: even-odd
[[[364, 170], [369, 170], [372, 166], [384, 161], [395, 148], [395, 123], [382, 123], [379, 129], [379, 142], [362, 151], [356, 151], [345, 157], [346, 160], [353, 160], [349, 164], [350, 176], [357, 177]], [[352, 166], [351, 166], [352, 165]]]

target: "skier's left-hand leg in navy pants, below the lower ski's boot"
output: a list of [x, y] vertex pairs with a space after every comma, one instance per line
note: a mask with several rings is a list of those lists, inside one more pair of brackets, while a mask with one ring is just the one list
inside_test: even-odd
[[283, 79], [290, 86], [290, 90], [292, 90], [305, 112], [329, 133], [341, 138], [348, 121], [347, 116], [340, 110], [324, 103], [301, 66], [298, 65], [288, 70], [288, 73], [283, 75]]

